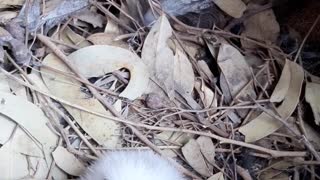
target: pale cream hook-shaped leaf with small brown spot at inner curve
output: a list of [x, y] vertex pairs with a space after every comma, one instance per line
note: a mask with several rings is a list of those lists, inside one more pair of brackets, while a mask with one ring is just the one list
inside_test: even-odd
[[121, 97], [134, 100], [145, 93], [149, 72], [141, 59], [130, 51], [107, 45], [82, 48], [69, 55], [74, 67], [85, 77], [100, 77], [106, 73], [125, 68], [130, 72], [130, 81], [120, 93]]

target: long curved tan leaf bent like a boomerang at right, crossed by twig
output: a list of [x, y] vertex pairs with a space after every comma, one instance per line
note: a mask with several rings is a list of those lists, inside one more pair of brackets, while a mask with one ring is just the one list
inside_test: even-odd
[[[303, 68], [294, 62], [286, 61], [286, 65], [290, 69], [290, 85], [288, 92], [282, 101], [282, 104], [276, 108], [278, 114], [283, 120], [286, 120], [291, 116], [295, 110], [301, 93], [302, 83], [304, 80]], [[284, 69], [285, 70], [285, 69]], [[286, 75], [282, 73], [281, 76]], [[280, 78], [280, 80], [286, 80], [286, 78]], [[278, 84], [286, 82], [279, 81]], [[278, 92], [274, 92], [279, 94]], [[282, 126], [282, 123], [274, 119], [267, 113], [263, 112], [257, 118], [253, 119], [248, 124], [240, 127], [239, 131], [245, 135], [246, 142], [254, 142], [265, 136], [270, 135]]]

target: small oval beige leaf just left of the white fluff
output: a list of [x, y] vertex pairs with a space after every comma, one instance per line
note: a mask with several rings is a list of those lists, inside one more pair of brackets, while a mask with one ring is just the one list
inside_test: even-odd
[[80, 176], [85, 171], [83, 163], [62, 146], [58, 146], [52, 156], [57, 166], [70, 175]]

